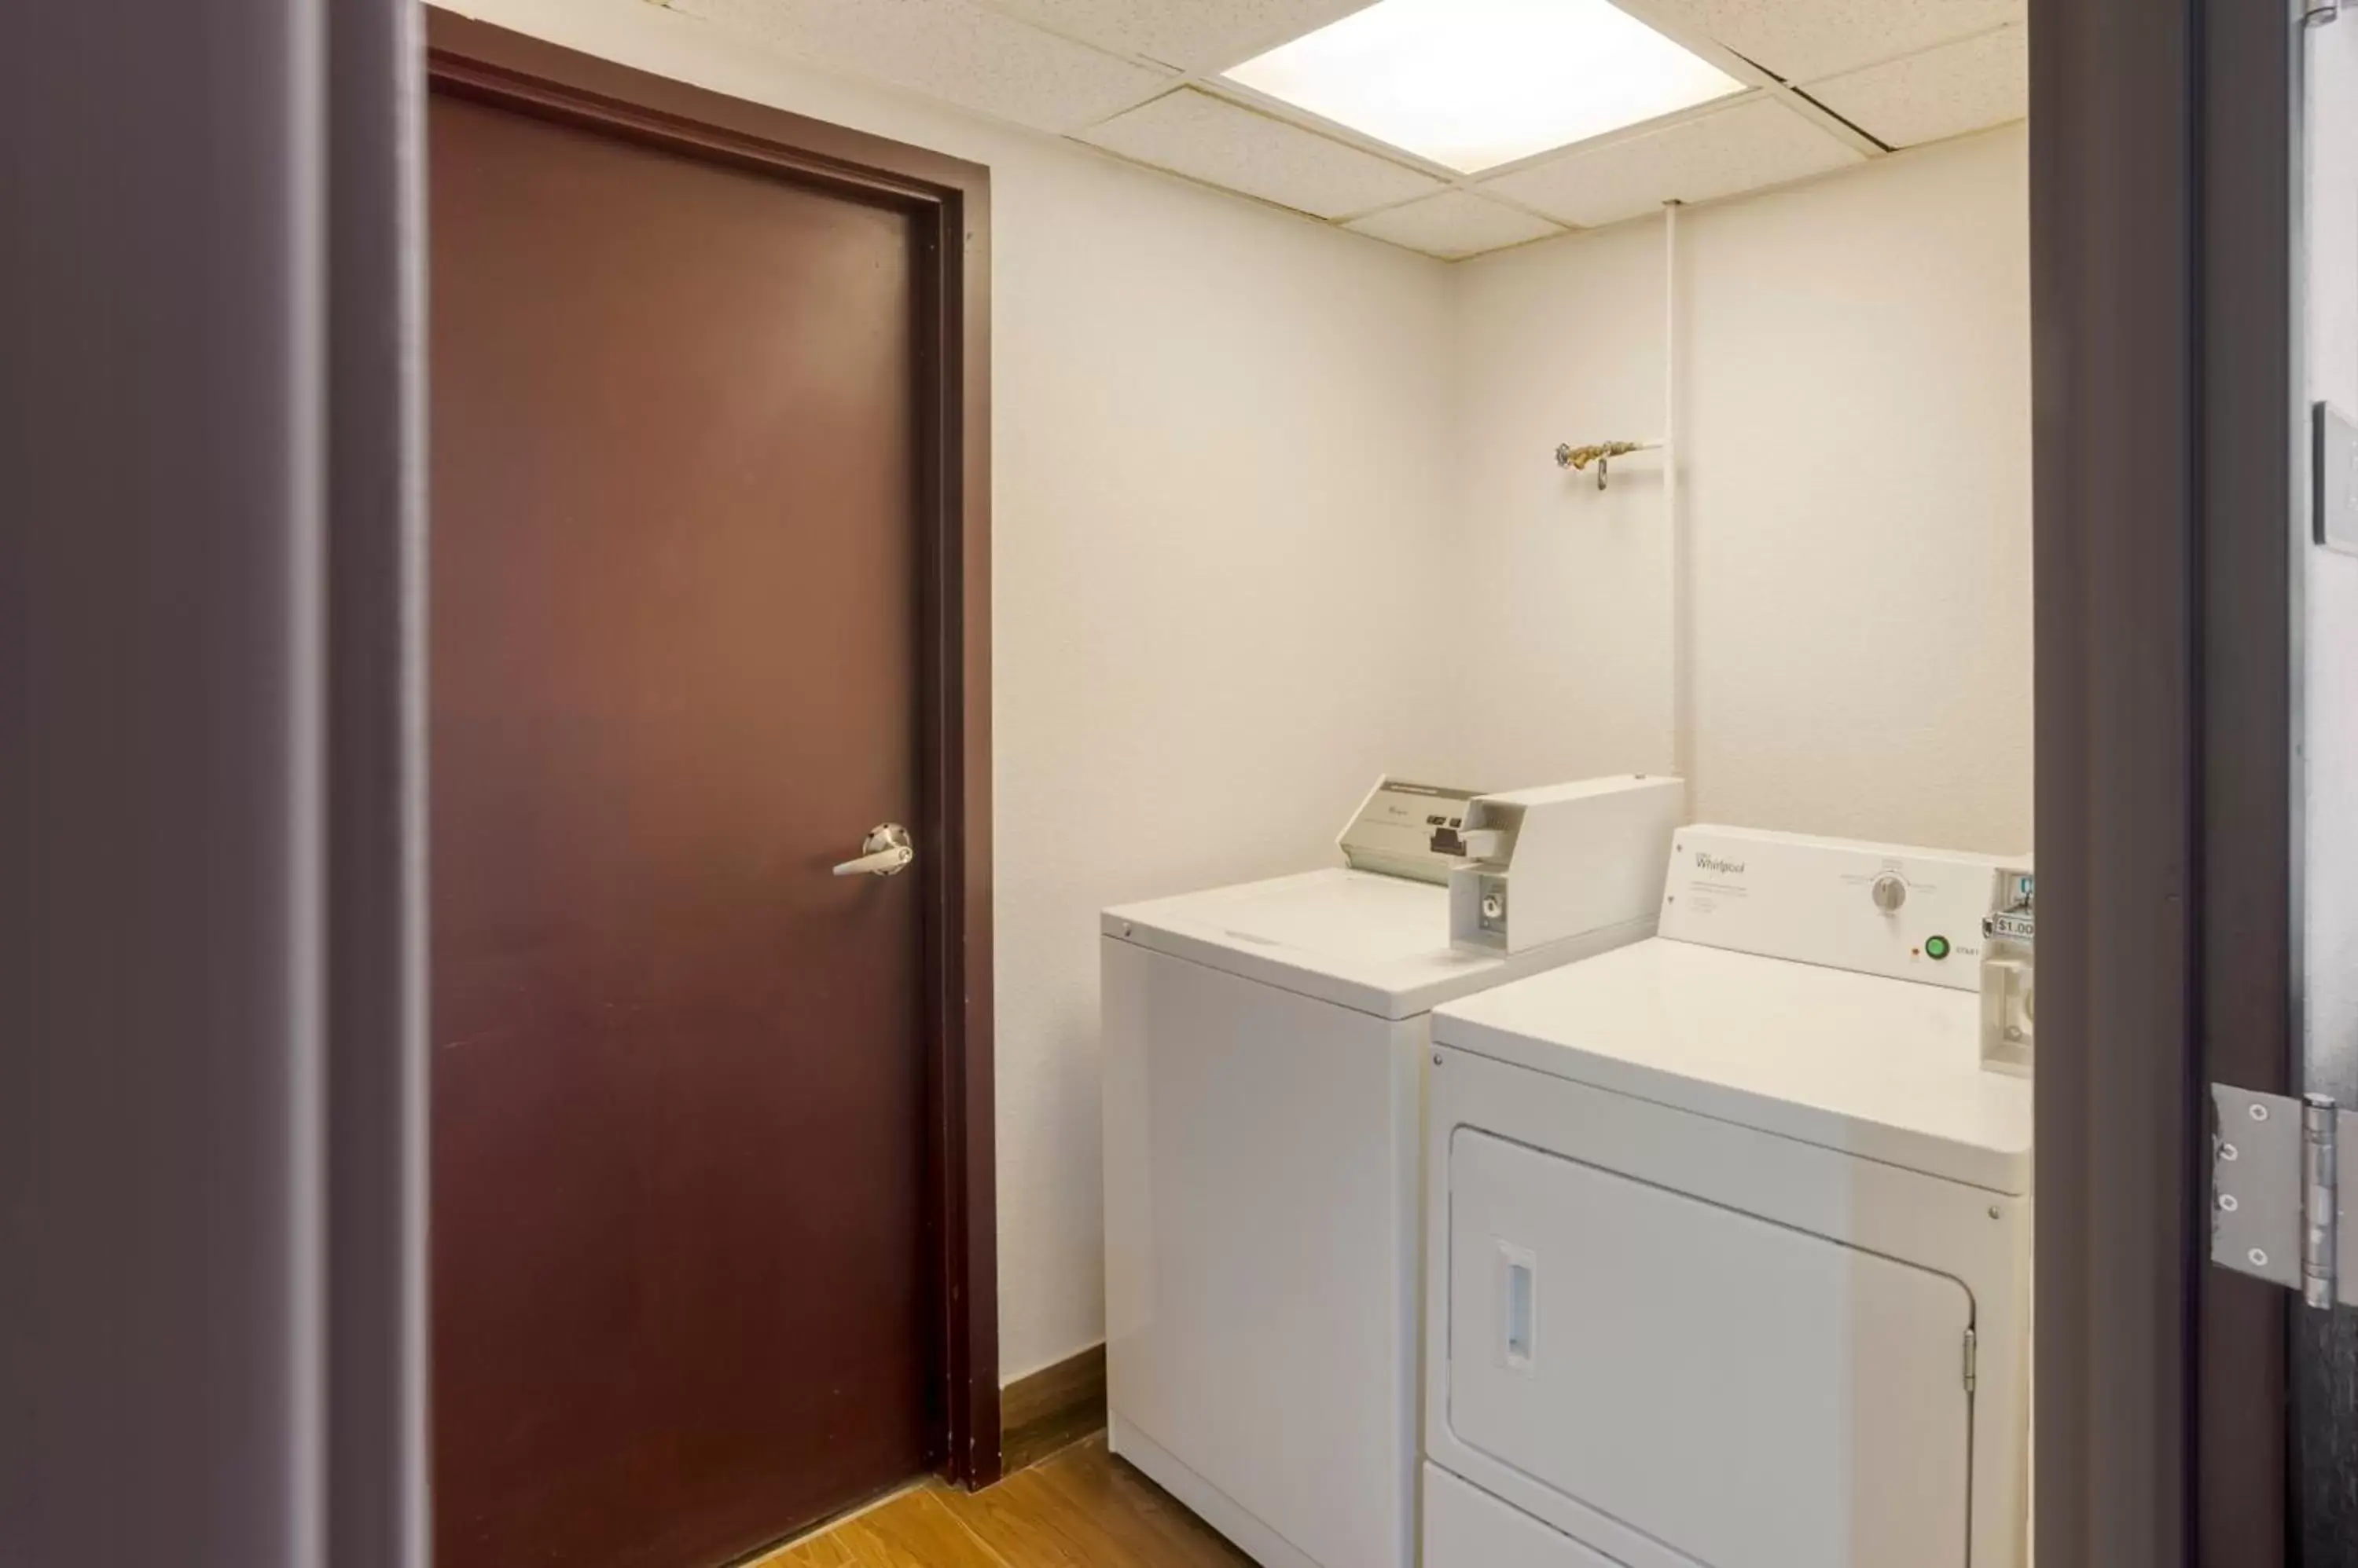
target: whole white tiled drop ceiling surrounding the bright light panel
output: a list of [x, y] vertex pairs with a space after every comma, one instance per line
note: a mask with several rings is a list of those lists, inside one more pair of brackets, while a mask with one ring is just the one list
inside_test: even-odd
[[[1615, 0], [1794, 87], [1436, 177], [1365, 132], [1219, 78], [1375, 0], [670, 0], [823, 71], [1078, 137], [1349, 229], [1457, 259], [1705, 203], [2016, 120], [2026, 0]], [[1698, 42], [1700, 40], [1700, 42]], [[1721, 57], [1726, 59], [1726, 57]], [[1731, 71], [1757, 78], [1747, 66]], [[1813, 118], [1816, 116], [1816, 118]], [[1849, 130], [1835, 120], [1846, 120]], [[1865, 134], [1860, 134], [1865, 132]], [[1860, 151], [1865, 149], [1865, 151]], [[1495, 198], [1495, 200], [1493, 200]], [[1544, 217], [1540, 217], [1544, 215]]]

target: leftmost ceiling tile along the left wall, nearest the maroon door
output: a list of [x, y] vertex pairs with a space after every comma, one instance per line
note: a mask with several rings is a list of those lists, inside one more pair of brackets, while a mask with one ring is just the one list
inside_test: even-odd
[[910, 87], [1016, 125], [1071, 132], [1172, 75], [1042, 33], [979, 0], [672, 0], [844, 75]]

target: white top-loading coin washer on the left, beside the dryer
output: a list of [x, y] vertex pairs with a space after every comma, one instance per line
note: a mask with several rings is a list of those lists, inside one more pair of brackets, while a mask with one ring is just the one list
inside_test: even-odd
[[1415, 1563], [1427, 1012], [1648, 936], [1681, 802], [1384, 780], [1342, 868], [1106, 910], [1111, 1445], [1266, 1568]]

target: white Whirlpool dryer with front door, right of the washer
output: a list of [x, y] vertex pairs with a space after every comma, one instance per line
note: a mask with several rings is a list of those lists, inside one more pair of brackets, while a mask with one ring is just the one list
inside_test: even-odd
[[1424, 1568], [2021, 1568], [2002, 865], [1684, 828], [1655, 938], [1436, 1009]]

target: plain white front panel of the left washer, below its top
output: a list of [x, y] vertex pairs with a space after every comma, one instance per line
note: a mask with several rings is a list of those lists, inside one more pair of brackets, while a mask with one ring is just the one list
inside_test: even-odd
[[1410, 1568], [1424, 1021], [1101, 964], [1111, 1408], [1311, 1561]]

